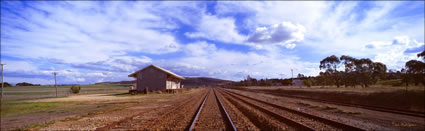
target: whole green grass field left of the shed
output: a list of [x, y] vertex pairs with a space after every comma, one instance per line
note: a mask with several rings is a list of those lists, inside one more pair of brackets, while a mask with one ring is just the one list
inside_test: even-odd
[[[88, 94], [116, 94], [128, 92], [128, 85], [81, 85], [79, 94], [70, 93], [71, 86], [58, 86], [58, 96]], [[72, 110], [60, 109], [62, 106], [78, 104], [76, 102], [29, 102], [30, 100], [55, 98], [53, 86], [22, 86], [4, 88], [4, 99], [1, 102], [1, 116], [15, 116], [39, 112], [61, 112]]]

